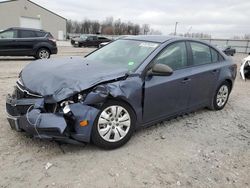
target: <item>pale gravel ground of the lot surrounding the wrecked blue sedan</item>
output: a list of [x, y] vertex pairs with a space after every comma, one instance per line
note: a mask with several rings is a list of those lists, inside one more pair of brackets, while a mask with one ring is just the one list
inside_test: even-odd
[[[92, 50], [61, 47], [52, 58]], [[233, 59], [240, 64], [243, 57]], [[224, 110], [203, 109], [162, 122], [104, 151], [10, 129], [5, 97], [31, 61], [0, 60], [0, 187], [250, 187], [250, 81], [239, 74]]]

